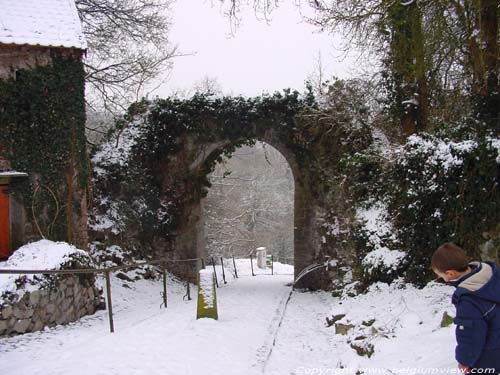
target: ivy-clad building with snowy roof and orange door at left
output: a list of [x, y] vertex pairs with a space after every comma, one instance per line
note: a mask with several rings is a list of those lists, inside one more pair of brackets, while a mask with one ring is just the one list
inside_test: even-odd
[[84, 247], [87, 45], [77, 8], [0, 0], [0, 9], [0, 258], [40, 237]]

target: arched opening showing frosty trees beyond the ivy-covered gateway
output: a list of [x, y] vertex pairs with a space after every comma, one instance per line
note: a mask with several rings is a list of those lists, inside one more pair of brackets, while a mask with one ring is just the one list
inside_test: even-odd
[[295, 183], [285, 157], [264, 142], [241, 146], [208, 178], [205, 254], [246, 258], [265, 247], [275, 261], [293, 265]]

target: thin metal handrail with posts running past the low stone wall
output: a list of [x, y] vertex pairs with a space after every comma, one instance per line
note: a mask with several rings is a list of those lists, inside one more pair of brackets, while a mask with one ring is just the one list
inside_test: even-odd
[[[181, 262], [193, 262], [193, 261], [203, 261], [202, 258], [191, 258], [191, 259], [168, 259], [168, 258], [160, 258], [154, 259], [150, 261], [144, 262], [136, 262], [131, 264], [125, 264], [122, 266], [114, 266], [107, 268], [80, 268], [80, 269], [69, 269], [69, 270], [17, 270], [17, 269], [0, 269], [0, 275], [10, 274], [10, 275], [35, 275], [35, 274], [43, 274], [43, 275], [76, 275], [76, 274], [96, 274], [103, 273], [106, 279], [106, 305], [109, 316], [109, 330], [111, 333], [115, 331], [114, 322], [113, 322], [113, 304], [111, 300], [111, 272], [116, 272], [128, 268], [138, 268], [142, 266], [152, 266], [158, 264], [165, 263], [181, 263]], [[187, 297], [191, 300], [190, 289], [189, 289], [189, 280], [187, 281]], [[167, 273], [165, 269], [163, 270], [163, 306], [167, 307]]]

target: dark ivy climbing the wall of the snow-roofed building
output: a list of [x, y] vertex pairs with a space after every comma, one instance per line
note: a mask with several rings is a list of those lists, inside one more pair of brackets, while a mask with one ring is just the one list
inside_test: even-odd
[[51, 63], [0, 81], [0, 144], [29, 179], [13, 186], [34, 237], [73, 242], [74, 217], [87, 188], [83, 64], [78, 53], [51, 52]]

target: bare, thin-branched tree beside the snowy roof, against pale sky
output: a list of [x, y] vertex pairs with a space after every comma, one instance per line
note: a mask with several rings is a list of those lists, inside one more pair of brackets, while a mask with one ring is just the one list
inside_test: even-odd
[[171, 67], [172, 0], [76, 0], [87, 38], [88, 104], [120, 112]]

